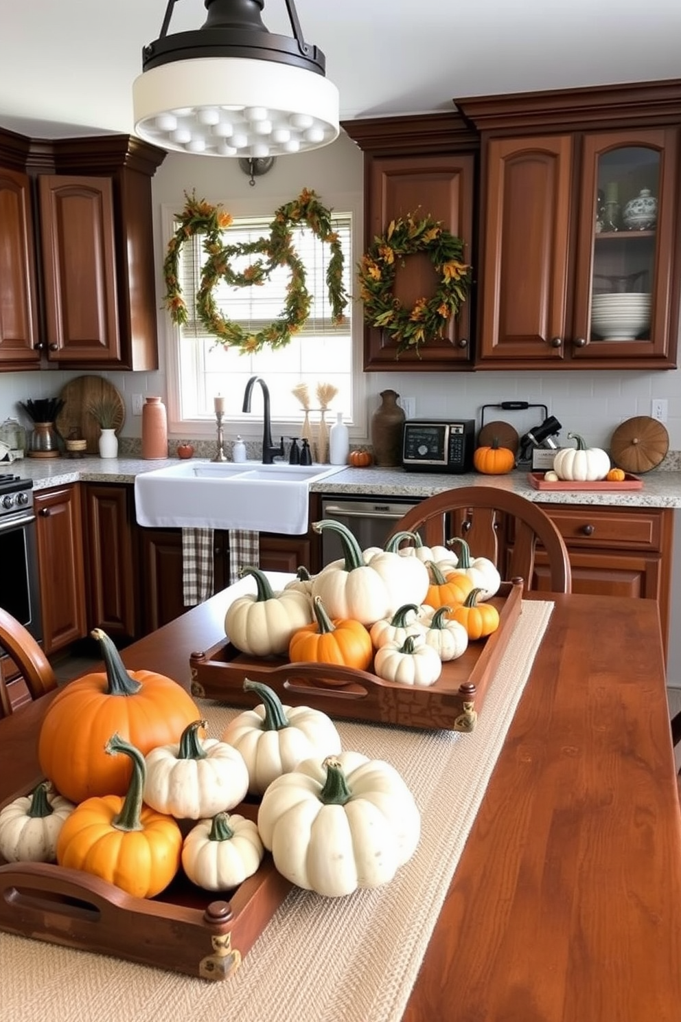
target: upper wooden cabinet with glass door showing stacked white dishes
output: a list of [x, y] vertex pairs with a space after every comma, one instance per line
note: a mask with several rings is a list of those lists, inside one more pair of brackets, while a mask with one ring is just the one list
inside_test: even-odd
[[[476, 368], [675, 367], [679, 84], [456, 105], [482, 139]], [[656, 221], [628, 229], [641, 189]], [[603, 324], [596, 306], [623, 293], [649, 295], [649, 315]]]

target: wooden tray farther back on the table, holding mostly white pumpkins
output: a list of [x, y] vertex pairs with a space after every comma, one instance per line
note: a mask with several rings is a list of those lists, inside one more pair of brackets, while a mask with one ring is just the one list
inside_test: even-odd
[[252, 708], [246, 678], [263, 682], [289, 706], [311, 706], [331, 716], [409, 728], [472, 731], [522, 609], [523, 579], [501, 583], [489, 602], [499, 610], [499, 628], [483, 642], [469, 643], [457, 660], [443, 663], [429, 688], [386, 682], [366, 670], [321, 663], [291, 663], [284, 657], [247, 656], [226, 638], [192, 653], [192, 695]]

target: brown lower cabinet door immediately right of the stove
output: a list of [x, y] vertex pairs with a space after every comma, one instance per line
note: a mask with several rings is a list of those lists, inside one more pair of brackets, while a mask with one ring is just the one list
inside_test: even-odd
[[39, 491], [34, 502], [43, 647], [49, 654], [87, 635], [79, 484]]

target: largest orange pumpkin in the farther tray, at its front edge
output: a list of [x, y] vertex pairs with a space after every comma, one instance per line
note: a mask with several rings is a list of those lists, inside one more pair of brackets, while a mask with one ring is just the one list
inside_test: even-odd
[[289, 644], [293, 663], [338, 663], [367, 670], [374, 657], [374, 644], [361, 621], [329, 617], [319, 596], [312, 601], [317, 621], [299, 629]]

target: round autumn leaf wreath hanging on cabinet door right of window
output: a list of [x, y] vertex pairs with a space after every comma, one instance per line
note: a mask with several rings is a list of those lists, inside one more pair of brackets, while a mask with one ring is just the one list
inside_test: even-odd
[[[394, 294], [395, 273], [415, 252], [429, 257], [438, 284], [431, 297], [420, 297], [406, 309]], [[397, 357], [407, 351], [419, 355], [420, 346], [442, 336], [450, 318], [458, 315], [471, 290], [471, 267], [464, 262], [464, 242], [441, 221], [407, 214], [374, 239], [361, 258], [358, 279], [367, 323], [397, 343]]]

